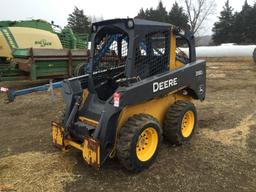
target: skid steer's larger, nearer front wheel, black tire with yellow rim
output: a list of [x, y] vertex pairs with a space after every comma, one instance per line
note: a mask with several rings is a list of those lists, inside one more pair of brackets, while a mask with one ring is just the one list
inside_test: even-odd
[[162, 129], [152, 116], [130, 117], [120, 130], [117, 157], [128, 170], [139, 172], [155, 161], [162, 141]]

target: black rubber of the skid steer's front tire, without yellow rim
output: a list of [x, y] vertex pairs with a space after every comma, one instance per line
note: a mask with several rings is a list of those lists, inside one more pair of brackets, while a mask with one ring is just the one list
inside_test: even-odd
[[[140, 134], [152, 127], [158, 134], [158, 144], [152, 157], [147, 161], [140, 161], [136, 154], [136, 144]], [[121, 164], [129, 171], [140, 172], [150, 167], [158, 154], [162, 142], [162, 129], [154, 117], [146, 114], [138, 114], [130, 117], [120, 130], [117, 141], [117, 157]]]

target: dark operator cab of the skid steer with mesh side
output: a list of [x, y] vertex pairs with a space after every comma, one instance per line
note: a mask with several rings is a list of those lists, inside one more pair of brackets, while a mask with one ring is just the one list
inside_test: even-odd
[[[106, 101], [119, 86], [169, 71], [171, 24], [141, 19], [114, 19], [92, 25], [89, 91]], [[179, 34], [179, 38], [188, 38]], [[190, 43], [191, 44], [191, 43]], [[190, 45], [189, 44], [189, 45]], [[184, 59], [184, 63], [191, 58]], [[107, 75], [95, 73], [106, 71]]]

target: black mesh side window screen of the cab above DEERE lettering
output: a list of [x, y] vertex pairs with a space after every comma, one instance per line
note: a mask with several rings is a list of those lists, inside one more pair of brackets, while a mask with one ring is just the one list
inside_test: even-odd
[[170, 33], [151, 33], [136, 45], [135, 68], [140, 79], [168, 70]]

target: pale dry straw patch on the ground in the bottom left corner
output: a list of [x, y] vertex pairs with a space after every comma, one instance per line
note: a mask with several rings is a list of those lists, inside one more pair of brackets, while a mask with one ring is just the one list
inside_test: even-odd
[[73, 165], [61, 154], [26, 152], [0, 159], [0, 191], [63, 191], [74, 182]]

